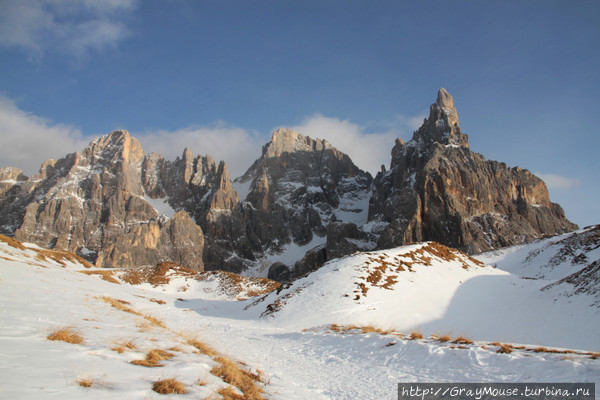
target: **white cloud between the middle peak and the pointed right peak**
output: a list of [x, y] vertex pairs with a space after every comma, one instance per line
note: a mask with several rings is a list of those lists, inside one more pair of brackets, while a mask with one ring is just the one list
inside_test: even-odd
[[[415, 118], [422, 123], [422, 117]], [[382, 164], [389, 167], [396, 138], [410, 137], [415, 119], [398, 116], [394, 125], [386, 132], [367, 133], [362, 125], [316, 114], [290, 129], [313, 139], [326, 139], [348, 154], [359, 168], [374, 175], [381, 170]]]

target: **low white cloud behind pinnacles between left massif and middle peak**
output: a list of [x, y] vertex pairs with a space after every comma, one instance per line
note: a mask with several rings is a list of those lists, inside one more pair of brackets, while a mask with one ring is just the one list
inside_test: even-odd
[[260, 157], [263, 144], [258, 135], [225, 123], [132, 135], [139, 139], [147, 153], [155, 152], [168, 160], [181, 156], [186, 147], [194, 155], [208, 154], [217, 162], [224, 160], [232, 180]]

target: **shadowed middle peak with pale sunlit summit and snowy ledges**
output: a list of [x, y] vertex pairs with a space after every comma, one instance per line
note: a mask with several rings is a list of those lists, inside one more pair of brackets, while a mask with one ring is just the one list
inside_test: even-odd
[[263, 252], [324, 242], [331, 221], [366, 222], [371, 181], [327, 141], [279, 129], [236, 180], [247, 188], [240, 207], [246, 235]]

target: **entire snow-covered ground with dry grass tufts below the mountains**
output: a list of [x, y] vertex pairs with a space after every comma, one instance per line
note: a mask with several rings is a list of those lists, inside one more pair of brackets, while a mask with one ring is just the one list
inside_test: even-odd
[[[541, 291], [557, 276], [522, 279], [499, 255], [493, 268], [431, 243], [357, 253], [238, 300], [264, 287], [174, 270], [134, 285], [25, 246], [0, 241], [0, 398], [218, 399], [223, 356], [260, 375], [269, 399], [395, 399], [399, 382], [600, 383], [595, 297]], [[83, 342], [48, 340], [59, 327]], [[170, 355], [131, 363], [152, 350]], [[154, 392], [165, 378], [187, 393]]]

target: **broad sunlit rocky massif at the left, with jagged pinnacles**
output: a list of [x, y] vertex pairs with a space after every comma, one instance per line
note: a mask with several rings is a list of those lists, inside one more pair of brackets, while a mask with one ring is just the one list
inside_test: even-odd
[[[46, 161], [29, 179], [19, 171], [10, 174], [3, 180], [17, 183], [0, 194], [2, 233], [77, 252], [103, 266], [154, 264], [153, 254], [201, 270], [202, 230], [189, 216], [173, 215], [184, 210], [211, 230], [237, 204], [224, 163], [194, 158], [188, 149], [174, 162], [146, 156], [127, 131]], [[151, 203], [163, 203], [161, 211], [169, 215]]]

